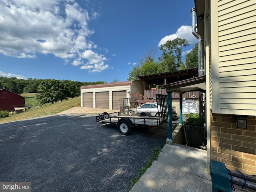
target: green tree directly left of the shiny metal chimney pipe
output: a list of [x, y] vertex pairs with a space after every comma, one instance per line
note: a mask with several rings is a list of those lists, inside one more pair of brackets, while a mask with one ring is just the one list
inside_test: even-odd
[[198, 68], [198, 44], [195, 44], [192, 51], [186, 54], [185, 64], [187, 69]]

